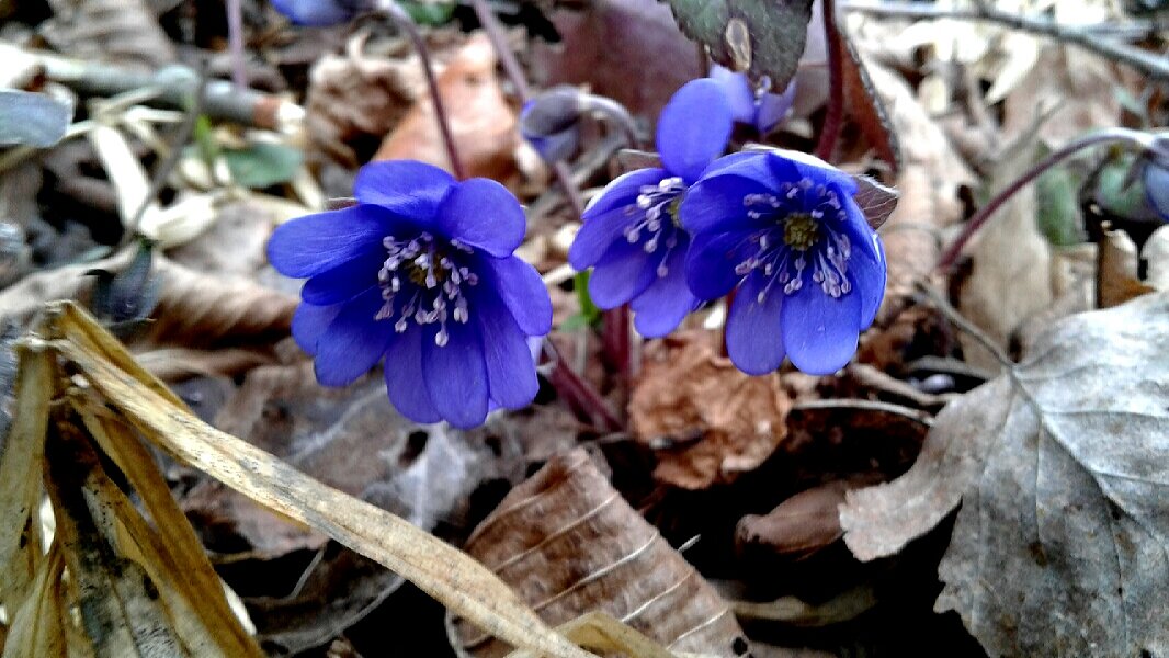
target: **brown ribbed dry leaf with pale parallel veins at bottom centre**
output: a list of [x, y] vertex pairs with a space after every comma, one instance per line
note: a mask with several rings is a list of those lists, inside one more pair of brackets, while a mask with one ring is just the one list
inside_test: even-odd
[[[742, 654], [727, 604], [583, 450], [549, 460], [512, 490], [465, 549], [551, 624], [597, 610], [671, 651]], [[472, 656], [507, 653], [465, 622], [457, 636]]]

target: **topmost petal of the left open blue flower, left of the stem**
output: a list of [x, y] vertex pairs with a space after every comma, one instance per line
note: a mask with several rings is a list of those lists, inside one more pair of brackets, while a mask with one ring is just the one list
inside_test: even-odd
[[374, 203], [410, 219], [420, 228], [429, 226], [455, 176], [417, 160], [369, 162], [353, 181], [353, 195], [362, 203]]

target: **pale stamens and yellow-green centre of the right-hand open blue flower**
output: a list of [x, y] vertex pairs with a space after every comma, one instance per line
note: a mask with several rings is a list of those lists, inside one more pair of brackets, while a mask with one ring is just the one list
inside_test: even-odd
[[835, 191], [803, 179], [783, 183], [779, 194], [748, 194], [742, 202], [760, 229], [749, 237], [754, 254], [734, 271], [742, 277], [758, 272], [766, 279], [760, 303], [776, 284], [784, 295], [795, 295], [809, 270], [825, 295], [838, 298], [852, 290], [848, 277], [852, 248], [842, 230], [846, 215]]

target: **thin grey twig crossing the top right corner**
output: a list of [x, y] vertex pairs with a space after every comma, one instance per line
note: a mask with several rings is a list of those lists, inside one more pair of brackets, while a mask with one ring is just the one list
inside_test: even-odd
[[[876, 16], [959, 19], [998, 23], [1010, 29], [1074, 43], [1108, 60], [1128, 64], [1151, 78], [1169, 81], [1169, 58], [1165, 58], [1164, 55], [1149, 53], [1148, 50], [1108, 39], [1104, 36], [1105, 30], [1099, 26], [1063, 26], [1049, 19], [1035, 19], [1003, 12], [988, 2], [975, 2], [970, 9], [939, 9], [933, 5], [916, 2], [848, 2], [844, 5], [844, 9], [849, 12], [863, 12]], [[1151, 29], [1150, 25], [1146, 34], [1151, 32]]]

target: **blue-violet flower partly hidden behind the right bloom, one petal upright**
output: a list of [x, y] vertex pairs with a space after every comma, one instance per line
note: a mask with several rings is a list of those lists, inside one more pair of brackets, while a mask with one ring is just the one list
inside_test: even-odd
[[678, 206], [726, 148], [731, 123], [718, 83], [686, 83], [658, 119], [664, 167], [636, 169], [610, 182], [584, 210], [584, 224], [568, 250], [574, 268], [594, 268], [588, 288], [593, 302], [601, 309], [628, 303], [634, 326], [646, 338], [670, 333], [699, 304], [686, 286], [690, 236]]

